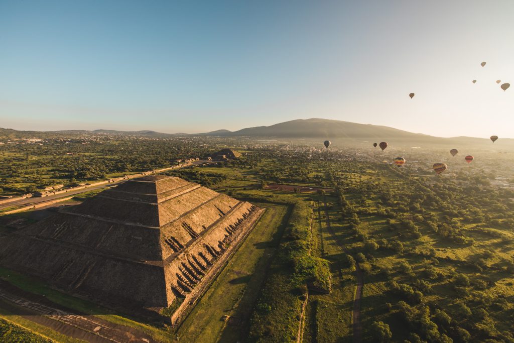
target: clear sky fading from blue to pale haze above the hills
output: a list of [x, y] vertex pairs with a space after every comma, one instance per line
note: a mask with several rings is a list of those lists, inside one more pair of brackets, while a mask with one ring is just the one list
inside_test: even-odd
[[511, 0], [1, 0], [0, 127], [205, 132], [317, 117], [514, 137], [513, 17]]

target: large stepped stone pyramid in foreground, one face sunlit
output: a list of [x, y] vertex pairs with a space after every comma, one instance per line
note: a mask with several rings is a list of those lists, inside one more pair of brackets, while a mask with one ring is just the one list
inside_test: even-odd
[[145, 176], [1, 238], [0, 264], [117, 308], [180, 298], [181, 310], [262, 211], [179, 177]]

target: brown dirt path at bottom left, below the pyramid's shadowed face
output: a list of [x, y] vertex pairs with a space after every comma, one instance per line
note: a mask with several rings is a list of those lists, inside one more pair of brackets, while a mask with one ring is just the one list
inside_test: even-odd
[[151, 336], [139, 330], [114, 324], [96, 316], [76, 313], [53, 304], [46, 298], [36, 299], [39, 296], [25, 293], [5, 281], [0, 282], [0, 310], [4, 308], [66, 336], [88, 342], [155, 342]]

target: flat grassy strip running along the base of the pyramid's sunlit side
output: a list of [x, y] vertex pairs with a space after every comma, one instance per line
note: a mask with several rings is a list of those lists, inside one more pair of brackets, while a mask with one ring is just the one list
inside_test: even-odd
[[[289, 208], [266, 212], [177, 331], [179, 341], [237, 342], [246, 338], [253, 305], [287, 223]], [[230, 316], [225, 322], [222, 317]]]

